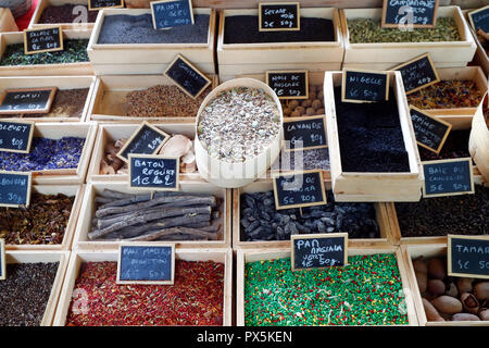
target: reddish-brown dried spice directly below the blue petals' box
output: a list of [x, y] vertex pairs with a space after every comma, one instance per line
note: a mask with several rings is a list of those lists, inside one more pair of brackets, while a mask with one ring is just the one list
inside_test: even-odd
[[63, 241], [75, 197], [33, 194], [28, 208], [0, 208], [0, 238], [10, 245]]

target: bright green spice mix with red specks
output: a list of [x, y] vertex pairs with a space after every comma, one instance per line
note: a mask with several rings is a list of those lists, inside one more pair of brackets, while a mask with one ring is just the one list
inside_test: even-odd
[[396, 257], [355, 256], [349, 265], [296, 271], [290, 259], [247, 263], [247, 326], [406, 325]]

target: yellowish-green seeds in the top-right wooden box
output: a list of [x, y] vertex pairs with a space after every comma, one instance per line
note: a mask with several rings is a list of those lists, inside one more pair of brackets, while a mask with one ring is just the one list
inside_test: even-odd
[[401, 30], [397, 28], [383, 28], [380, 20], [353, 18], [348, 20], [351, 44], [377, 42], [440, 42], [461, 41], [459, 28], [453, 17], [437, 20], [435, 28], [415, 28]]

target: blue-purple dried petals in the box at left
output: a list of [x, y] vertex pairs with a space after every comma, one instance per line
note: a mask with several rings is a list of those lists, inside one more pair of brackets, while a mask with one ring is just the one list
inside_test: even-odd
[[75, 137], [33, 138], [29, 153], [0, 151], [0, 170], [29, 172], [75, 169], [84, 145], [85, 139]]

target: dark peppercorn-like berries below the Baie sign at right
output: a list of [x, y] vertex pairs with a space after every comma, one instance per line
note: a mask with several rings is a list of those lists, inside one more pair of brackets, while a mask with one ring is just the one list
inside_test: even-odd
[[403, 237], [447, 234], [489, 235], [489, 187], [475, 185], [474, 195], [425, 198], [396, 203]]

